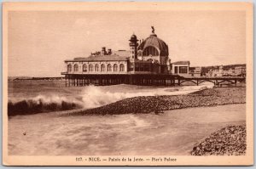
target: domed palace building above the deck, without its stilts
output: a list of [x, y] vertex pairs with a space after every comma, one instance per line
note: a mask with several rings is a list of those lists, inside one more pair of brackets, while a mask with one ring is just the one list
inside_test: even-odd
[[[119, 55], [111, 49], [90, 54], [87, 58], [65, 60], [66, 72], [62, 74], [169, 74], [171, 60], [166, 42], [152, 31], [143, 41], [136, 35], [129, 40], [130, 53]], [[124, 55], [126, 54], [126, 55]]]

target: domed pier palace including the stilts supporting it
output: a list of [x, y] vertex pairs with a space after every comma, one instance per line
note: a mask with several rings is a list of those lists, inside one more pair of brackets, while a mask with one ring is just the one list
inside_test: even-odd
[[134, 82], [151, 85], [160, 82], [157, 80], [160, 75], [189, 75], [188, 61], [171, 64], [168, 45], [154, 33], [153, 26], [151, 34], [144, 40], [138, 40], [135, 34], [131, 35], [129, 46], [130, 51], [114, 52], [103, 47], [101, 51], [91, 53], [87, 58], [67, 59], [67, 71], [61, 74], [66, 76], [67, 85], [75, 86]]

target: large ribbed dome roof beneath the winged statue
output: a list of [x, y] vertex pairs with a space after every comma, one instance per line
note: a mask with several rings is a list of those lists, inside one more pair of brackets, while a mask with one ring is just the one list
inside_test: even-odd
[[140, 45], [139, 49], [144, 50], [147, 47], [154, 47], [160, 50], [160, 56], [168, 56], [168, 46], [166, 42], [158, 38], [154, 33], [146, 38]]

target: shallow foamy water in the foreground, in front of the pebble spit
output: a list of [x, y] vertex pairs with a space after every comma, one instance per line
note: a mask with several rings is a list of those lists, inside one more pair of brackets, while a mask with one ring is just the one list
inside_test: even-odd
[[190, 155], [212, 132], [244, 124], [245, 109], [230, 104], [161, 115], [15, 115], [9, 155]]

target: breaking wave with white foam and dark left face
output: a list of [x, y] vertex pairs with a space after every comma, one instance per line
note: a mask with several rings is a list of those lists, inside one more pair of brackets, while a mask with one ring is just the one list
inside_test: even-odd
[[169, 87], [169, 88], [148, 88], [134, 89], [128, 92], [113, 92], [104, 90], [102, 87], [85, 87], [82, 93], [69, 97], [60, 97], [58, 95], [44, 96], [38, 95], [30, 99], [21, 99], [18, 101], [9, 100], [9, 115], [36, 114], [49, 111], [90, 109], [110, 104], [121, 99], [155, 96], [155, 95], [180, 95], [193, 93], [198, 90], [212, 86], [190, 86], [190, 87]]

